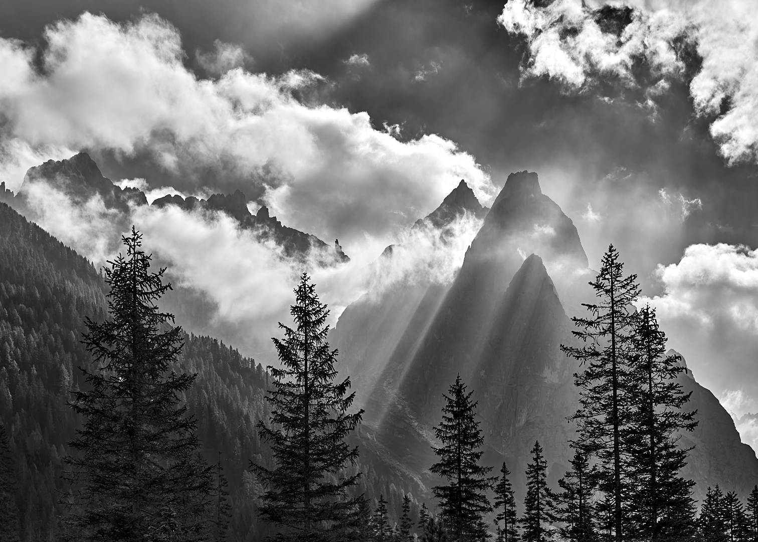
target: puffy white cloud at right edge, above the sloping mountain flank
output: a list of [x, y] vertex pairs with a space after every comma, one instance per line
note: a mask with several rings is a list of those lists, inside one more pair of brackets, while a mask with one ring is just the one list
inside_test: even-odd
[[669, 345], [687, 358], [698, 382], [726, 391], [735, 417], [758, 400], [758, 253], [731, 244], [694, 244], [678, 263], [658, 266], [656, 308]]

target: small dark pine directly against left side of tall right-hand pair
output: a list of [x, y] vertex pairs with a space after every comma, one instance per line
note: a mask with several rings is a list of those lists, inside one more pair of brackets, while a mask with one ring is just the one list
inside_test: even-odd
[[565, 527], [559, 533], [572, 542], [594, 542], [599, 540], [595, 528], [595, 507], [593, 496], [597, 483], [595, 470], [590, 468], [587, 457], [577, 451], [570, 461], [572, 469], [558, 481], [562, 491], [554, 496], [551, 519]]

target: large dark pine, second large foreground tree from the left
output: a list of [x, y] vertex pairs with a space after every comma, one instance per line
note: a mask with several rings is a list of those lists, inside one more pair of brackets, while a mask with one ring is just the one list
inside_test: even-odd
[[279, 526], [282, 540], [324, 540], [334, 531], [359, 528], [362, 496], [349, 496], [360, 472], [344, 474], [356, 465], [358, 447], [346, 436], [355, 430], [363, 411], [349, 414], [355, 393], [350, 380], [334, 383], [337, 350], [326, 341], [329, 311], [318, 300], [315, 285], [303, 273], [290, 307], [295, 328], [279, 324], [284, 339], [273, 339], [280, 367], [268, 367], [274, 389], [269, 423], [258, 423], [258, 435], [271, 445], [276, 467], [251, 462], [267, 490], [261, 518]]

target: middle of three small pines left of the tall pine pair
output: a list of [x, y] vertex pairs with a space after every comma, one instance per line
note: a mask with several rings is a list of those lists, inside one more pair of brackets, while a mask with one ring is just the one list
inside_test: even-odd
[[526, 498], [524, 499], [523, 540], [525, 542], [545, 542], [551, 540], [552, 533], [543, 524], [549, 520], [553, 509], [553, 499], [547, 487], [547, 462], [542, 455], [539, 441], [531, 449], [531, 463], [526, 466]]

